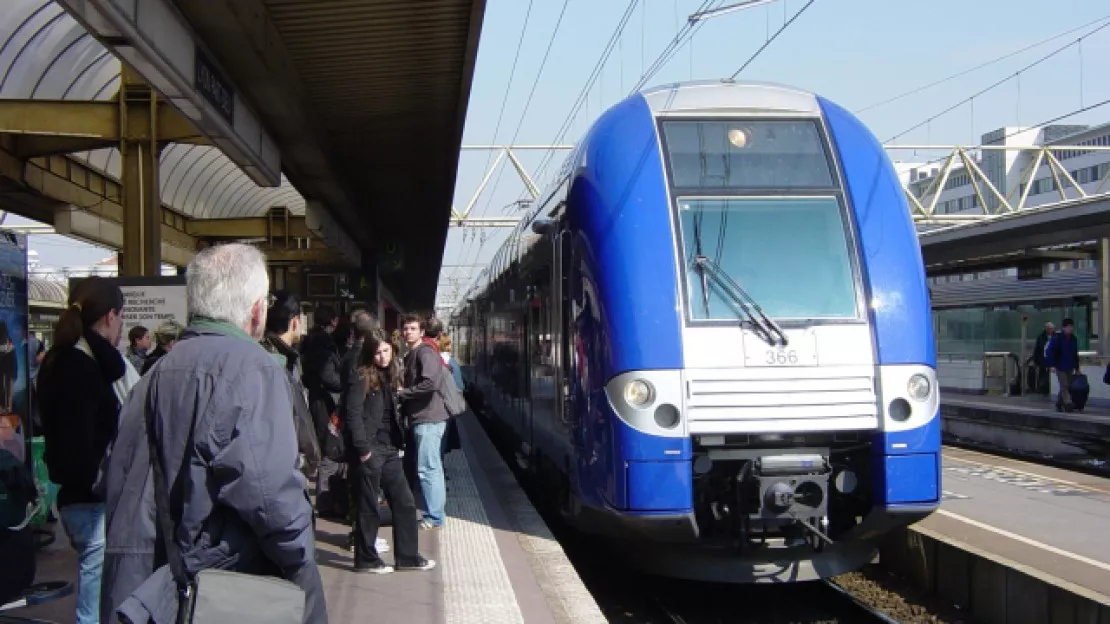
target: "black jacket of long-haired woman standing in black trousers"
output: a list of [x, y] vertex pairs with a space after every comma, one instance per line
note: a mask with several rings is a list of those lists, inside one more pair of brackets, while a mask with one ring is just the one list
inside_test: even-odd
[[[371, 452], [404, 449], [400, 410], [391, 388], [367, 392], [366, 382], [353, 378], [343, 403], [346, 405], [344, 421], [353, 446], [352, 459]], [[392, 416], [387, 422], [386, 415]]]

